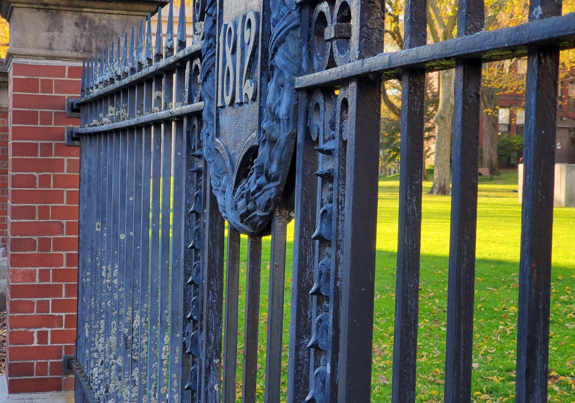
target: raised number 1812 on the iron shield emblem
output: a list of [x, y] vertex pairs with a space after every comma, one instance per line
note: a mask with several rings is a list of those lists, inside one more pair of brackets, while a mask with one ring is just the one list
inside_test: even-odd
[[[240, 16], [239, 20], [225, 24], [221, 29], [220, 62], [218, 63], [219, 107], [232, 106], [234, 101], [236, 104], [244, 104], [255, 100], [256, 82], [250, 79], [250, 73], [256, 51], [256, 40], [258, 40], [258, 28], [257, 14], [249, 12]], [[247, 51], [244, 52], [245, 47]]]

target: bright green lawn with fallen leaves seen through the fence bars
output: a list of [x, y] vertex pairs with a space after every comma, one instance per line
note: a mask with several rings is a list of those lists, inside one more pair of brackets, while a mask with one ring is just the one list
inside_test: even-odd
[[[432, 172], [431, 176], [432, 177]], [[397, 176], [379, 182], [377, 259], [375, 277], [373, 402], [389, 402], [393, 360], [395, 267], [397, 251]], [[431, 182], [424, 183], [424, 192]], [[504, 172], [480, 178], [477, 229], [477, 271], [474, 314], [473, 397], [475, 402], [513, 402], [521, 207], [517, 202], [517, 174]], [[421, 238], [420, 326], [417, 351], [418, 403], [442, 402], [447, 318], [447, 272], [451, 197], [423, 197]], [[242, 238], [245, 288], [246, 241]], [[267, 288], [270, 239], [264, 239], [258, 401], [263, 402], [266, 349]], [[293, 223], [288, 235], [286, 262], [284, 378], [287, 371], [287, 328], [290, 309]], [[575, 401], [575, 208], [556, 208], [553, 228], [553, 284], [551, 288], [549, 401]], [[240, 307], [245, 304], [240, 290]], [[239, 333], [243, 333], [240, 309]], [[238, 394], [241, 395], [239, 336]], [[286, 383], [284, 379], [283, 389]], [[285, 394], [283, 395], [285, 399]]]

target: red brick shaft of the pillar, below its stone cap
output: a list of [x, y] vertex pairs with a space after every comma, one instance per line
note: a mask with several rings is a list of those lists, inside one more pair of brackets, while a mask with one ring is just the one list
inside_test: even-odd
[[[74, 389], [79, 148], [64, 143], [81, 68], [9, 70], [7, 374], [10, 393]], [[0, 172], [0, 180], [2, 173]], [[1, 202], [0, 202], [1, 203]]]

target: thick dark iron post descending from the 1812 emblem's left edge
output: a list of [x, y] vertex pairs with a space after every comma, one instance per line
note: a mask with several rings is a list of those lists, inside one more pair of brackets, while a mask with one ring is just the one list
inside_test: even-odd
[[207, 203], [203, 251], [204, 277], [201, 294], [201, 401], [202, 403], [219, 403], [224, 299], [224, 219], [218, 210], [217, 199], [210, 188], [210, 181], [205, 182]]

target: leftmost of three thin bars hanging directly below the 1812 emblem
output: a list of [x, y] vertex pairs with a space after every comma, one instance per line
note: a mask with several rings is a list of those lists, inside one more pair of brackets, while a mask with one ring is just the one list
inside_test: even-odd
[[236, 401], [237, 309], [240, 280], [240, 234], [228, 226], [228, 256], [225, 260], [225, 327], [223, 402]]

